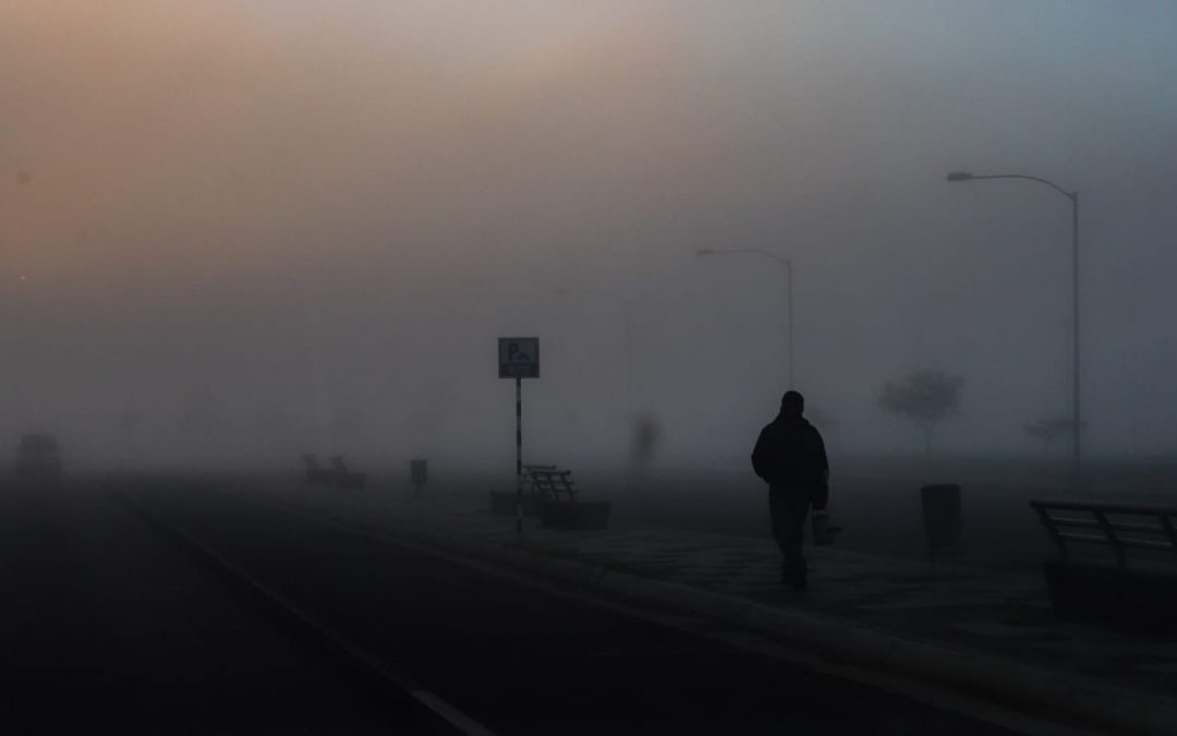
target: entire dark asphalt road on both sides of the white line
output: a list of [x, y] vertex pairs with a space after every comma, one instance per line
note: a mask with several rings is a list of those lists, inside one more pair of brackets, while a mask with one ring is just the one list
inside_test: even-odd
[[[1005, 732], [200, 484], [8, 489], [2, 511], [6, 732]], [[399, 688], [350, 676], [161, 526]]]

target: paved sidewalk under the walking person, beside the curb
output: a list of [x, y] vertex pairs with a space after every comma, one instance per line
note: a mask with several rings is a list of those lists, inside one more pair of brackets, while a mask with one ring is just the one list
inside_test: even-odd
[[[765, 539], [626, 523], [611, 523], [600, 531], [551, 530], [532, 518], [525, 519], [519, 538], [513, 518], [488, 512], [488, 497], [476, 506], [471, 500], [412, 498], [387, 490], [345, 492], [298, 483], [257, 493], [324, 518], [452, 551], [510, 552], [514, 562], [534, 559], [546, 570], [559, 561], [581, 570], [587, 565], [598, 575], [626, 575], [629, 589], [649, 581], [673, 583], [684, 592], [705, 591], [713, 599], [722, 596], [723, 605], [716, 610], [731, 611], [742, 625], [765, 621], [766, 610], [777, 611], [787, 622], [782, 625], [796, 629], [805, 621], [820, 622], [825, 629], [814, 632], [833, 625], [833, 631], [845, 631], [844, 638], [870, 641], [866, 645], [876, 649], [892, 639], [891, 648], [896, 643], [929, 645], [909, 658], [935, 655], [939, 661], [944, 652], [957, 652], [966, 667], [978, 658], [1028, 665], [1032, 671], [1010, 669], [1009, 677], [1022, 676], [1044, 688], [1051, 685], [1040, 682], [1044, 676], [1059, 681], [1057, 688], [1069, 699], [1082, 692], [1082, 698], [1092, 701], [1091, 694], [1097, 692], [1109, 708], [1138, 710], [1143, 703], [1177, 712], [1169, 699], [1177, 692], [1177, 639], [1059, 622], [1038, 576], [946, 565], [932, 571], [924, 563], [809, 548], [810, 590], [794, 592], [778, 582], [779, 556]], [[698, 609], [691, 596], [681, 598], [684, 605]], [[740, 612], [740, 603], [751, 605], [754, 615]], [[931, 669], [936, 667], [945, 665]], [[946, 667], [956, 665], [949, 662]], [[996, 671], [988, 676], [1005, 677], [1003, 670]], [[927, 675], [926, 668], [922, 674]], [[1069, 678], [1078, 678], [1079, 684], [1062, 682]], [[1133, 703], [1137, 696], [1142, 699]], [[1086, 705], [1096, 707], [1093, 701]]]

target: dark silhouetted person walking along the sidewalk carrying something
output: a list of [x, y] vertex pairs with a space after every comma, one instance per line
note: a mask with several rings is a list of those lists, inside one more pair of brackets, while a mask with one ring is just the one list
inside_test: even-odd
[[784, 562], [780, 578], [804, 590], [809, 576], [802, 541], [810, 504], [825, 509], [830, 499], [830, 463], [822, 435], [802, 413], [805, 399], [789, 391], [780, 399], [780, 413], [760, 430], [752, 450], [752, 469], [769, 484], [772, 536]]

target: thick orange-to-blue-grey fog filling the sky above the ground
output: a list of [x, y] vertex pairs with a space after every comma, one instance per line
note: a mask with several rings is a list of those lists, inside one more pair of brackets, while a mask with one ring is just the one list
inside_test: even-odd
[[[1177, 7], [0, 5], [0, 437], [94, 463], [746, 456], [787, 387], [840, 453], [1177, 449]], [[1055, 447], [1062, 453], [1065, 443]], [[1062, 455], [1060, 455], [1062, 456]]]

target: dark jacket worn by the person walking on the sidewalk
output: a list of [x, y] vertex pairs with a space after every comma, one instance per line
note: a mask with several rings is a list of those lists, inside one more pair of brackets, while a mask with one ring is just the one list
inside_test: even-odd
[[816, 509], [825, 508], [830, 463], [820, 432], [804, 417], [780, 413], [760, 430], [752, 470], [772, 492], [804, 493]]

